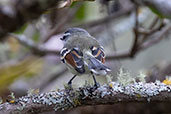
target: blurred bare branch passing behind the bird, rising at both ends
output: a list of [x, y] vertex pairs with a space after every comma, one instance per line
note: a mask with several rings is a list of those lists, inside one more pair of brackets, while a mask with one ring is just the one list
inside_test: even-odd
[[[163, 29], [158, 32], [158, 34], [157, 34], [157, 36], [155, 36], [155, 38], [140, 44], [138, 46], [136, 52], [134, 53], [134, 55], [136, 55], [140, 51], [145, 50], [145, 49], [153, 46], [154, 44], [160, 42], [164, 38], [164, 35], [167, 34], [169, 30], [171, 30], [170, 25], [167, 25], [167, 26], [163, 27]], [[31, 41], [30, 39], [26, 38], [23, 35], [14, 35], [14, 34], [11, 34], [11, 35], [14, 38], [16, 38], [21, 44], [23, 44], [24, 46], [30, 48], [31, 51], [36, 55], [39, 55], [39, 56], [45, 56], [45, 55], [48, 55], [48, 54], [57, 55], [57, 56], [60, 55], [60, 51], [47, 50], [43, 46], [39, 46], [39, 45], [34, 44], [33, 41]], [[132, 51], [127, 50], [125, 52], [115, 53], [113, 55], [107, 55], [106, 60], [132, 58], [131, 53], [132, 53]]]

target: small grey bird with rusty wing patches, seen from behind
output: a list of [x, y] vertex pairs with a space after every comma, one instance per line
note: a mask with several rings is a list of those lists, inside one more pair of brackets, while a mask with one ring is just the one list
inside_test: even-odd
[[60, 38], [64, 47], [62, 48], [61, 61], [74, 76], [69, 80], [68, 85], [72, 87], [72, 80], [82, 74], [91, 74], [95, 86], [99, 84], [95, 75], [105, 76], [110, 69], [104, 65], [105, 54], [99, 42], [82, 28], [69, 28]]

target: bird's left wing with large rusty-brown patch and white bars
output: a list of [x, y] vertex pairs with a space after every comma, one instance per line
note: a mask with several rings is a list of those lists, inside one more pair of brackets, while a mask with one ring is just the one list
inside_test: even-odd
[[80, 74], [85, 72], [83, 54], [78, 48], [61, 50], [61, 61], [73, 67]]

